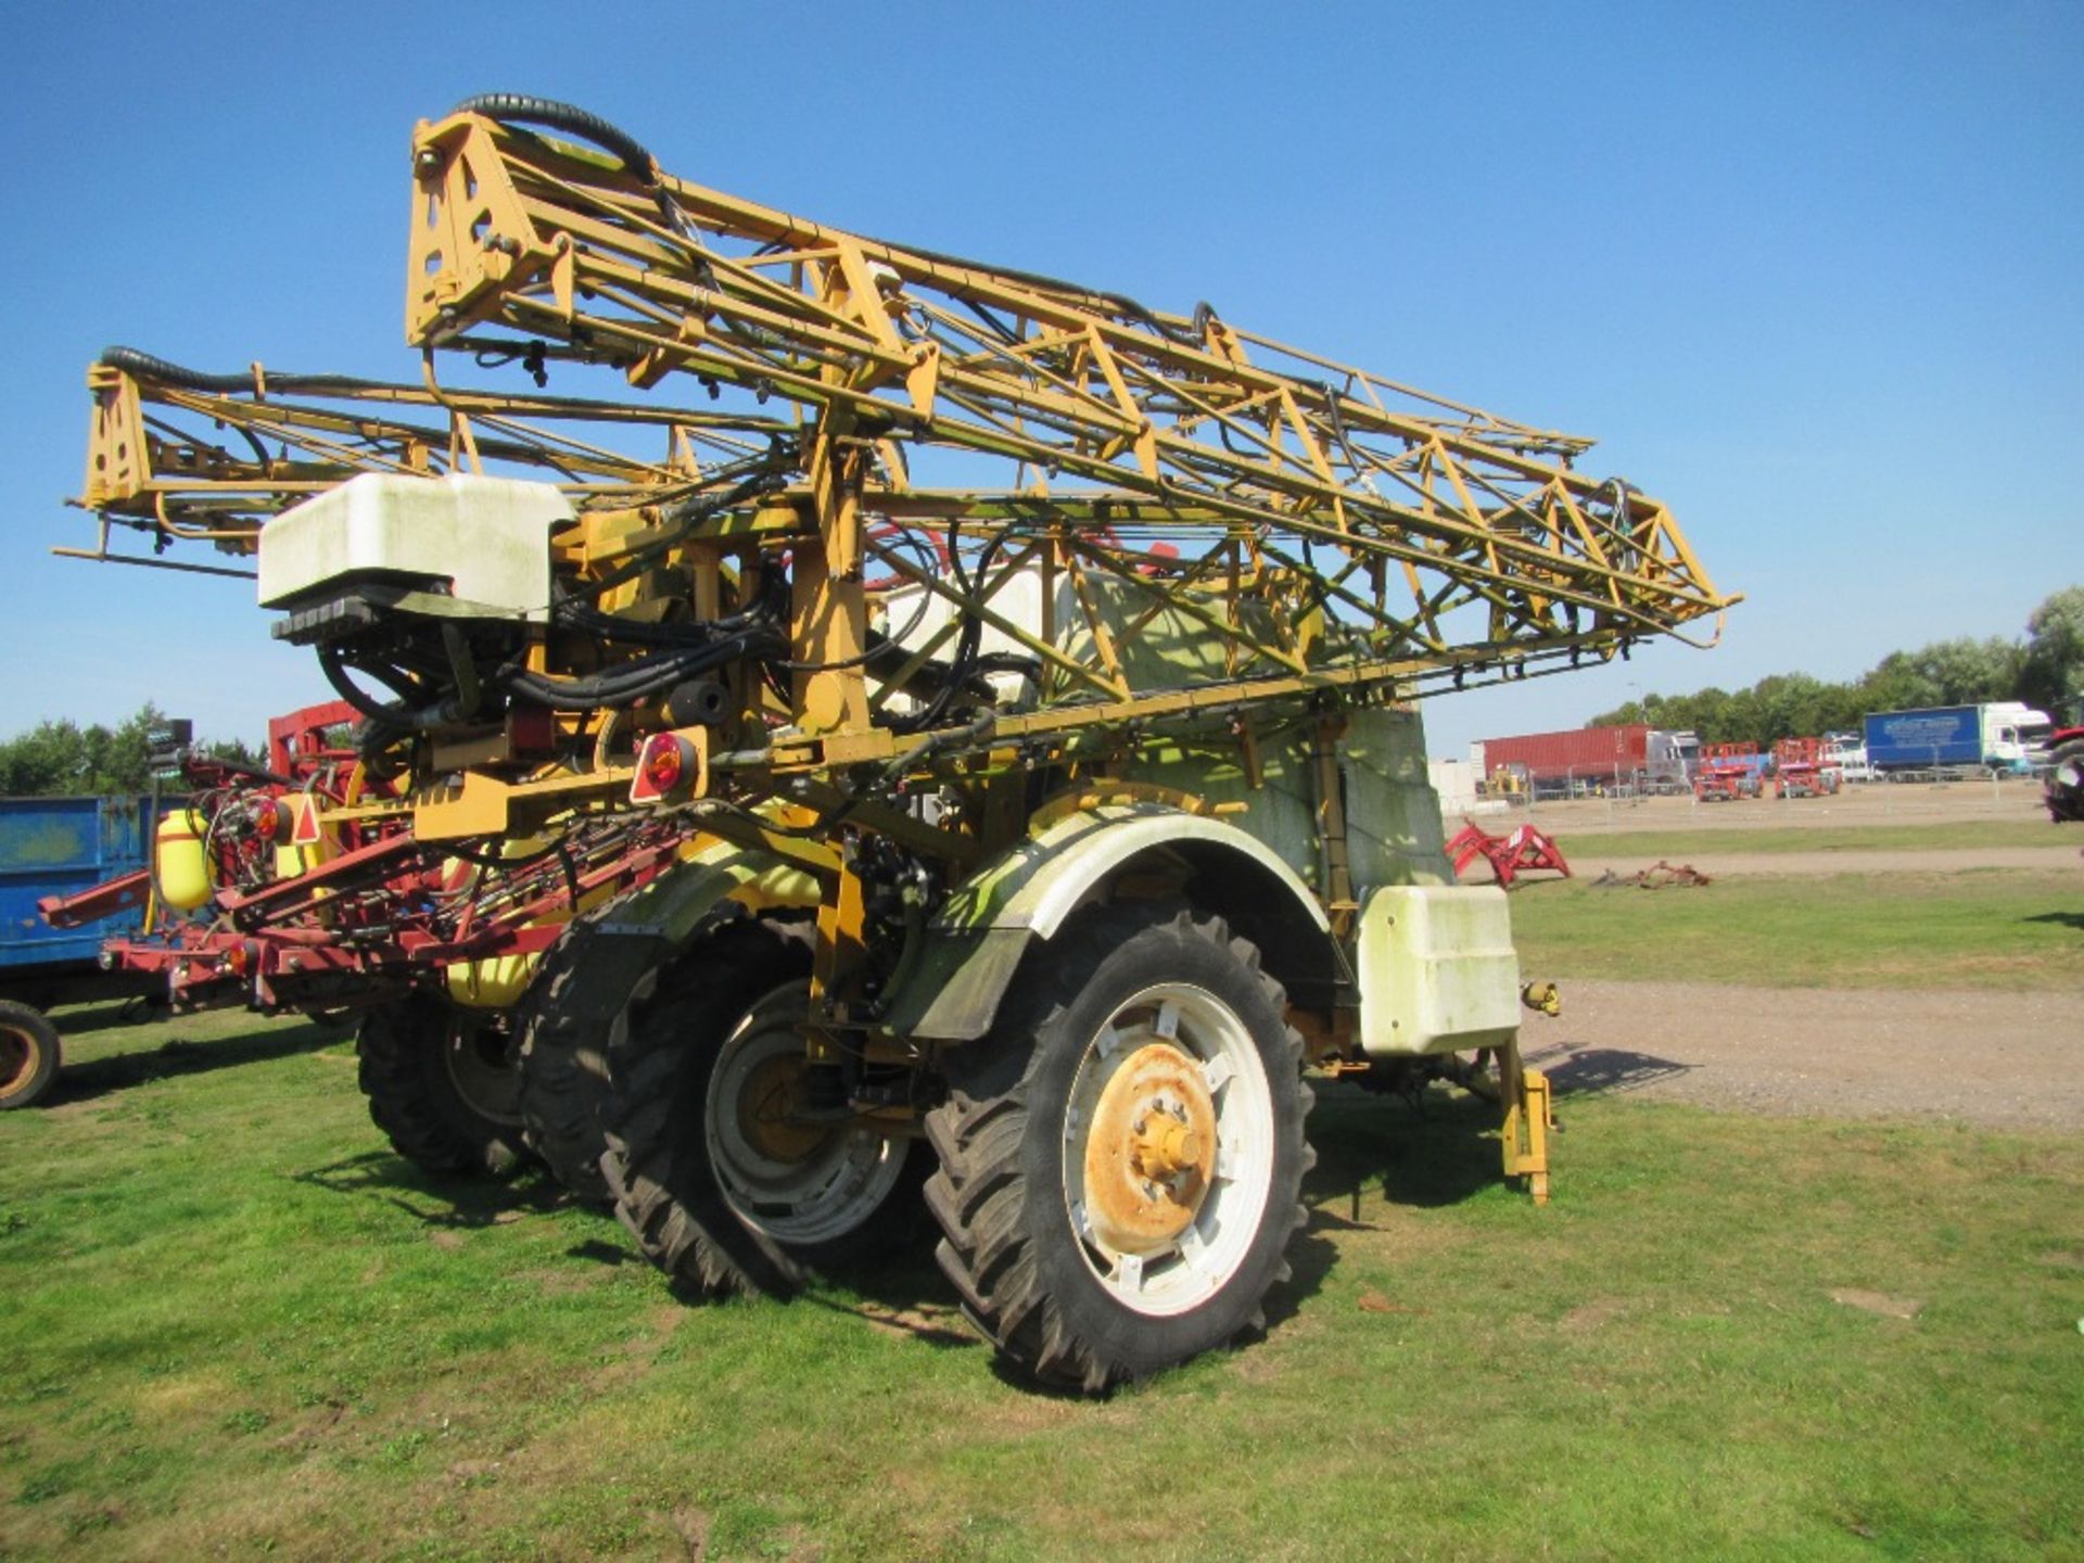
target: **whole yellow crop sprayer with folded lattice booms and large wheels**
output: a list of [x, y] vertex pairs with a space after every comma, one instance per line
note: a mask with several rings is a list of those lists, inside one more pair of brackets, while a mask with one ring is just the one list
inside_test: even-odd
[[[511, 1023], [529, 1134], [596, 1152], [654, 1263], [788, 1290], [923, 1198], [1002, 1357], [1100, 1390], [1261, 1323], [1307, 1065], [1394, 1092], [1494, 1059], [1544, 1194], [1536, 1000], [1503, 892], [1453, 884], [1417, 702], [1719, 615], [1661, 502], [1582, 438], [723, 196], [565, 104], [471, 100], [411, 167], [446, 423], [390, 446], [296, 377], [263, 406], [258, 371], [104, 365], [131, 469], [94, 508], [250, 529], [392, 779], [333, 819], [548, 873], [602, 821], [677, 832], [596, 907], [573, 875]], [[154, 398], [206, 419], [181, 461], [138, 461]], [[513, 475], [561, 417], [667, 454], [611, 431]], [[219, 425], [381, 461], [292, 490]], [[917, 481], [950, 471], [1002, 481]], [[436, 992], [381, 1007], [365, 1061], [425, 1067], [365, 1084], [452, 1090], [452, 1036]]]

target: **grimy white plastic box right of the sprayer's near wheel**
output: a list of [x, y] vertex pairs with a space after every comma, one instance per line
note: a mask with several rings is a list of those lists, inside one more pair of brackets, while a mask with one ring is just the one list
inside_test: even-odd
[[1519, 954], [1496, 886], [1382, 886], [1361, 902], [1361, 1050], [1500, 1048], [1519, 1032]]

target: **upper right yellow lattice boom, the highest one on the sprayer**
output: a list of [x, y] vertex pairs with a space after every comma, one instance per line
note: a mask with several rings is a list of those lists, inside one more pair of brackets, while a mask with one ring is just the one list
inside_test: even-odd
[[[1576, 469], [1590, 440], [1282, 346], [1209, 306], [1165, 315], [704, 190], [579, 110], [479, 108], [415, 135], [406, 336], [423, 348], [794, 404], [811, 488], [821, 471], [844, 481], [859, 454], [871, 513], [909, 506], [927, 452], [996, 458], [996, 488], [1061, 506], [1067, 565], [1127, 581], [1184, 561], [1163, 567], [1173, 586], [1182, 571], [1190, 586], [1311, 581], [1302, 606], [1342, 631], [1280, 648], [1286, 663], [1396, 667], [1407, 688], [1613, 656], [1734, 600], [1661, 502]], [[1134, 527], [1098, 515], [1109, 498], [1132, 502]], [[836, 517], [819, 517], [827, 536]], [[973, 525], [1032, 531], [1011, 513]], [[1246, 638], [1252, 659], [1286, 665]]]

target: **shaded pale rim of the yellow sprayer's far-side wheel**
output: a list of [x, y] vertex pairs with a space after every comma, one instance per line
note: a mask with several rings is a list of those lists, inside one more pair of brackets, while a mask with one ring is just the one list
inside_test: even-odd
[[[792, 982], [761, 998], [725, 1038], [702, 1109], [702, 1140], [723, 1196], [738, 1217], [775, 1242], [815, 1244], [861, 1227], [904, 1173], [904, 1142], [865, 1123], [840, 1123], [817, 1138], [809, 1155], [777, 1155], [748, 1132], [746, 1094], [763, 1090], [763, 1071], [802, 1059], [796, 1021], [804, 984]], [[769, 1111], [750, 1105], [754, 1113]], [[771, 1111], [786, 1111], [775, 1102]]]

